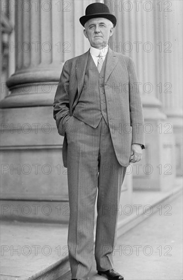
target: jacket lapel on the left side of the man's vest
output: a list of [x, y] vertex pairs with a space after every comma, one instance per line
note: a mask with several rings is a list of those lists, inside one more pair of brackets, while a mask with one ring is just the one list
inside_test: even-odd
[[90, 50], [88, 50], [83, 55], [81, 55], [81, 57], [78, 58], [76, 62], [76, 75], [78, 81], [78, 99], [80, 97], [84, 85], [85, 72], [86, 72], [89, 52]]

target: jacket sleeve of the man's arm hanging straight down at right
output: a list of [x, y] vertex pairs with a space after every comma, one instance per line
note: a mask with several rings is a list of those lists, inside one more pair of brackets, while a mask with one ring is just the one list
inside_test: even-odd
[[129, 74], [129, 104], [130, 104], [130, 121], [132, 126], [132, 144], [140, 144], [142, 149], [144, 144], [144, 119], [140, 93], [138, 91], [138, 79], [131, 58], [128, 61]]

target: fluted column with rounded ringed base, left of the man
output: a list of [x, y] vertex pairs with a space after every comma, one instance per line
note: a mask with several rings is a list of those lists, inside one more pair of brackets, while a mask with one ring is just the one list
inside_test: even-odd
[[[3, 107], [50, 105], [63, 61], [59, 6], [42, 0], [17, 0], [15, 4], [12, 47], [16, 49], [16, 71], [7, 81], [11, 95], [3, 101]], [[55, 29], [59, 36], [54, 36]]]

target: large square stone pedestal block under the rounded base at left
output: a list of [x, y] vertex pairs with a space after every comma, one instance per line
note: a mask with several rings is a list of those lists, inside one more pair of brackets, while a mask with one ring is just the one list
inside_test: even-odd
[[[6, 108], [1, 115], [1, 199], [17, 206], [23, 201], [55, 202], [61, 206], [56, 209], [60, 221], [65, 222], [61, 215], [66, 211], [62, 206], [68, 204], [67, 170], [53, 107]], [[45, 211], [50, 211], [49, 206]]]

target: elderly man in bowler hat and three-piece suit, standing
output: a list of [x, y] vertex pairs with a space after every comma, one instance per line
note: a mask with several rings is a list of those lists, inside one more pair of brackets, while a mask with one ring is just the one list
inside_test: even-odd
[[141, 159], [142, 105], [132, 60], [108, 47], [116, 17], [104, 4], [93, 3], [80, 22], [91, 47], [65, 62], [54, 100], [54, 118], [64, 136], [63, 162], [68, 168], [71, 275], [72, 279], [87, 279], [92, 267], [98, 189], [97, 271], [108, 279], [123, 279], [114, 269], [112, 256], [118, 211], [105, 209], [118, 209], [126, 167]]

